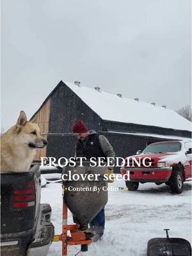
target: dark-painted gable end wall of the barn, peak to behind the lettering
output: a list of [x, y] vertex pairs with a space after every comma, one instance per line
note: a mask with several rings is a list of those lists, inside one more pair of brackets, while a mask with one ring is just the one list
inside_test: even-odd
[[[83, 120], [88, 129], [100, 131], [100, 117], [63, 84], [51, 96], [49, 132], [72, 132], [72, 124], [78, 119]], [[74, 156], [75, 144], [76, 138], [72, 136], [49, 136], [47, 156]]]

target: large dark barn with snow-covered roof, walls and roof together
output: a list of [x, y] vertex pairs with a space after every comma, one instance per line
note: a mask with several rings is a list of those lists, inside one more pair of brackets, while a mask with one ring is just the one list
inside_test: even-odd
[[117, 157], [136, 154], [155, 141], [191, 138], [191, 122], [175, 111], [102, 92], [99, 87], [81, 86], [79, 82], [60, 81], [31, 120], [36, 117], [48, 140], [47, 148], [36, 158], [74, 156], [77, 139], [71, 133], [78, 119], [104, 134]]

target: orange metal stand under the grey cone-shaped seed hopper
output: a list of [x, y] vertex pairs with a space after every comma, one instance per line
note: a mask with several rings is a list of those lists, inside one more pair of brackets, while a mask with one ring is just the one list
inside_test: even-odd
[[[63, 188], [64, 196], [64, 188]], [[62, 242], [62, 256], [67, 256], [67, 246], [77, 245], [77, 244], [90, 244], [92, 239], [86, 239], [83, 231], [79, 230], [79, 224], [67, 225], [67, 205], [63, 198], [63, 224], [62, 224], [62, 234], [55, 235], [53, 238], [54, 242]], [[67, 236], [67, 232], [70, 231], [71, 236]]]

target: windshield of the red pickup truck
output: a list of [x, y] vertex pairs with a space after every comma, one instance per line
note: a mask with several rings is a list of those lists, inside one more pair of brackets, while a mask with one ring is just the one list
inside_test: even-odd
[[171, 152], [179, 152], [180, 151], [180, 143], [179, 142], [173, 142], [173, 143], [156, 143], [156, 144], [150, 144], [143, 150], [142, 153], [154, 153], [154, 154], [160, 154], [160, 153], [171, 153]]

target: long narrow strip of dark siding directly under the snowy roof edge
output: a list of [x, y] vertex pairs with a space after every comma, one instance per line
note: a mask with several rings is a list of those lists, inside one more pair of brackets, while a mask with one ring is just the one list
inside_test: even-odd
[[175, 136], [191, 138], [190, 131], [180, 131], [175, 129], [150, 126], [150, 125], [126, 124], [126, 123], [102, 120], [101, 126], [102, 126], [102, 131], [141, 132], [141, 133], [152, 133], [152, 134], [161, 134], [161, 135], [173, 135], [173, 136], [175, 135]]

